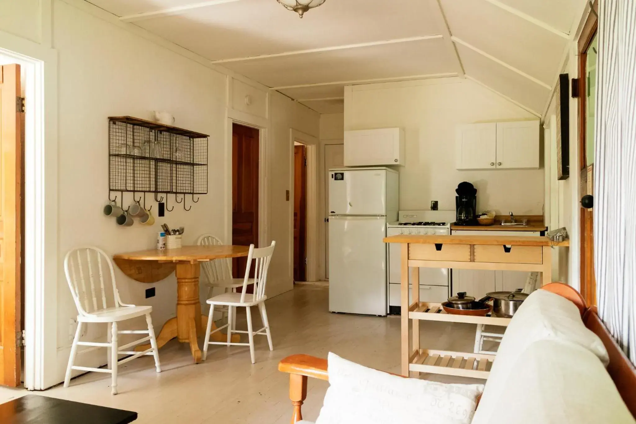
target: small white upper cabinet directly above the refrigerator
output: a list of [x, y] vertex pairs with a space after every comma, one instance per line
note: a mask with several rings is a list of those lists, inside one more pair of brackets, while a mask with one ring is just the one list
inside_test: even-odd
[[345, 131], [345, 167], [404, 165], [404, 130]]

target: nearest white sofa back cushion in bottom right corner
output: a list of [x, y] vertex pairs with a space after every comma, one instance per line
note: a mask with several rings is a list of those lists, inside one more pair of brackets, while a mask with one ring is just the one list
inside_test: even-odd
[[568, 341], [535, 341], [498, 384], [496, 407], [480, 402], [472, 424], [635, 422], [598, 357]]

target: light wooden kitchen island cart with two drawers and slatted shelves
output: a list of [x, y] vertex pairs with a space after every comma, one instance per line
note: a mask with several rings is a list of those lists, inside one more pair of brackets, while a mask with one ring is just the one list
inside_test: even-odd
[[[408, 275], [418, 281], [418, 268], [456, 268], [464, 270], [538, 271], [541, 285], [551, 282], [553, 246], [568, 242], [551, 242], [536, 236], [457, 236], [399, 235], [384, 238], [387, 243], [401, 243], [401, 374], [436, 373], [487, 378], [495, 355], [446, 352], [420, 348], [420, 320], [465, 322], [469, 324], [508, 325], [510, 318], [473, 317], [446, 313], [438, 303], [420, 302], [418, 284], [413, 284], [409, 304]], [[411, 320], [411, 343], [408, 322]]]

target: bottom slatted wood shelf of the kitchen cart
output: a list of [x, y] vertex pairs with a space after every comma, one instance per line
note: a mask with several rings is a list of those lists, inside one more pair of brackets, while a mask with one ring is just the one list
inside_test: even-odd
[[495, 355], [419, 349], [411, 353], [409, 371], [449, 376], [488, 378]]

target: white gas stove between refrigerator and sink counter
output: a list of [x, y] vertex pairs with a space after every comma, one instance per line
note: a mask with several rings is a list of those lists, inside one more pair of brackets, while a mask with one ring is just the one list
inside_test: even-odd
[[[387, 224], [387, 236], [401, 234], [450, 235], [450, 224], [455, 222], [454, 210], [400, 210], [398, 222]], [[388, 266], [389, 313], [400, 313], [400, 245], [389, 243]], [[445, 302], [451, 292], [450, 270], [447, 268], [420, 268], [420, 301]], [[409, 291], [410, 296], [411, 291]], [[409, 301], [410, 303], [410, 301]]]

